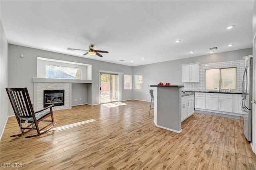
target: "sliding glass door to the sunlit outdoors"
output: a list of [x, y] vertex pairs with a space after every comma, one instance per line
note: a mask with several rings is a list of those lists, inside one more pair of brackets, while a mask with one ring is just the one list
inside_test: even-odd
[[100, 73], [100, 103], [118, 102], [118, 74]]

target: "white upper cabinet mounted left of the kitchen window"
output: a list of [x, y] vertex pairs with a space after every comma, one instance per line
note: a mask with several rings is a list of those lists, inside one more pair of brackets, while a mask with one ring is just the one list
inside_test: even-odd
[[199, 64], [182, 64], [182, 82], [199, 82]]

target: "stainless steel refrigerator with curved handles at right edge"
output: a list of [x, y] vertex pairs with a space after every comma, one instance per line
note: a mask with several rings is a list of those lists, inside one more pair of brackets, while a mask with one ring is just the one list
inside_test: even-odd
[[242, 78], [241, 110], [244, 117], [244, 136], [252, 141], [252, 57], [245, 57], [245, 68]]

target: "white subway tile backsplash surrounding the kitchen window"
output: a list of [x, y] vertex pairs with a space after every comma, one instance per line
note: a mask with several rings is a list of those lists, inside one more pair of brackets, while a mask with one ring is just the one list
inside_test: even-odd
[[184, 83], [184, 86], [185, 86], [184, 90], [205, 91], [206, 90], [205, 89], [205, 70], [214, 69], [214, 68], [227, 68], [227, 67], [236, 67], [236, 90], [232, 90], [232, 92], [239, 92], [239, 93], [242, 92], [242, 76], [244, 73], [244, 60], [200, 64], [199, 65], [199, 82]]

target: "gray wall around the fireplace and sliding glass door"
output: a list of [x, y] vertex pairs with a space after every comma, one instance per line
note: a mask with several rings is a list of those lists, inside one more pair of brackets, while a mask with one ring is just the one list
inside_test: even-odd
[[[20, 54], [23, 54], [24, 58], [21, 58]], [[84, 57], [76, 57], [71, 55], [65, 55], [65, 54], [54, 53], [50, 51], [44, 51], [44, 50], [10, 44], [9, 45], [9, 87], [27, 87], [32, 101], [34, 100], [32, 78], [37, 77], [37, 73], [36, 73], [37, 57], [91, 64], [92, 80], [94, 80], [94, 83], [91, 86], [90, 85], [87, 86], [87, 92], [91, 92], [91, 94], [88, 94], [88, 96], [92, 96], [90, 99], [87, 100], [87, 103], [92, 105], [99, 104], [99, 85], [100, 85], [99, 70], [123, 72], [124, 74], [132, 74], [131, 66], [107, 63], [107, 62], [87, 59]], [[85, 92], [86, 89], [85, 91], [83, 90], [84, 89], [81, 89], [81, 88], [79, 89], [81, 93], [86, 93]], [[131, 92], [132, 90], [130, 90], [130, 93]], [[127, 93], [129, 94], [127, 90], [123, 90], [123, 96], [124, 96], [123, 100], [132, 99], [131, 95], [129, 95], [128, 98], [126, 97]], [[10, 113], [10, 115], [12, 114], [13, 113]]]

